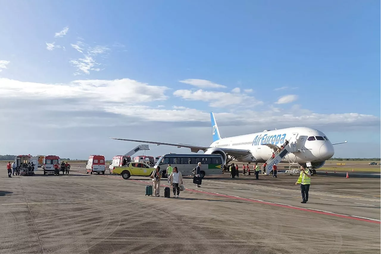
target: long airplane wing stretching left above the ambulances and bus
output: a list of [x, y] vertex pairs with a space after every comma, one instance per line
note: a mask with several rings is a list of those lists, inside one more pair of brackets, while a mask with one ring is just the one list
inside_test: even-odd
[[[110, 137], [111, 138], [111, 137]], [[166, 146], [176, 146], [177, 148], [190, 148], [193, 153], [197, 153], [198, 151], [206, 151], [209, 148], [212, 148], [210, 146], [196, 146], [196, 145], [188, 145], [188, 144], [174, 144], [174, 143], [164, 143], [164, 142], [155, 142], [155, 141], [146, 141], [146, 140], [134, 140], [134, 139], [124, 139], [124, 138], [111, 138], [115, 140], [122, 140], [122, 141], [131, 141], [131, 142], [139, 142], [139, 143], [149, 143], [149, 144], [155, 144], [155, 145], [166, 145]], [[248, 154], [251, 154], [250, 150], [243, 150], [243, 149], [232, 149], [232, 148], [223, 148], [219, 147], [218, 149], [223, 150], [225, 153], [231, 155], [231, 156], [246, 156]]]

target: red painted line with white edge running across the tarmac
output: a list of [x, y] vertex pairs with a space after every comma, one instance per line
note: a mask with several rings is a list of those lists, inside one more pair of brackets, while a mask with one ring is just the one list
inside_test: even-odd
[[[133, 180], [133, 179], [130, 179], [130, 181], [139, 182], [139, 183], [146, 183], [147, 184], [147, 182], [144, 182], [142, 180]], [[168, 185], [161, 184], [160, 186], [168, 186]], [[303, 211], [303, 212], [313, 212], [315, 214], [330, 215], [330, 216], [335, 216], [335, 217], [344, 218], [344, 219], [360, 220], [360, 221], [365, 221], [365, 222], [370, 222], [370, 223], [381, 224], [381, 221], [363, 219], [363, 218], [358, 218], [358, 217], [352, 217], [350, 215], [335, 214], [335, 213], [330, 213], [330, 212], [317, 211], [317, 210], [312, 210], [312, 209], [307, 209], [307, 208], [302, 208], [302, 207], [296, 207], [296, 206], [291, 206], [291, 205], [286, 205], [286, 204], [276, 204], [276, 203], [271, 203], [271, 202], [267, 202], [267, 201], [261, 201], [261, 200], [255, 200], [255, 199], [249, 199], [249, 198], [241, 198], [241, 197], [237, 197], [237, 196], [230, 196], [230, 195], [225, 195], [225, 194], [212, 193], [212, 192], [202, 191], [202, 190], [193, 190], [193, 189], [188, 189], [188, 188], [186, 188], [186, 190], [187, 191], [204, 193], [204, 194], [213, 195], [213, 196], [238, 199], [238, 200], [248, 201], [248, 202], [252, 202], [252, 203], [267, 204], [267, 205], [270, 205], [270, 206], [289, 208], [289, 209], [299, 210], [299, 211]]]

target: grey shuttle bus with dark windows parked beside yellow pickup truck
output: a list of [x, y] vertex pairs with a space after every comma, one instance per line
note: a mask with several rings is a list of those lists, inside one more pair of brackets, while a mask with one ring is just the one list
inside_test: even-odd
[[201, 162], [200, 177], [205, 175], [219, 175], [222, 174], [223, 165], [225, 161], [221, 154], [165, 154], [156, 162], [163, 172], [163, 177], [166, 175], [166, 168], [168, 164], [171, 167], [177, 167], [182, 175], [193, 175], [192, 170]]

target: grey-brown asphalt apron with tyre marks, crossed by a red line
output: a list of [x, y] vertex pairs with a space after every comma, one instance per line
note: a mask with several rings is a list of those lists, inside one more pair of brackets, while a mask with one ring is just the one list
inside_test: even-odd
[[144, 195], [147, 177], [84, 171], [8, 178], [0, 165], [0, 253], [381, 253], [380, 179], [316, 175], [301, 204], [285, 174], [185, 178], [167, 199]]

